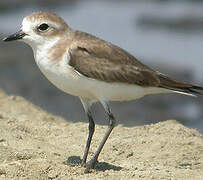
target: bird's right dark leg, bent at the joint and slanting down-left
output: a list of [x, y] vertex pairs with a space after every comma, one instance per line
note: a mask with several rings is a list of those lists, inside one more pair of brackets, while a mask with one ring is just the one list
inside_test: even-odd
[[105, 102], [101, 102], [102, 105], [104, 106], [105, 111], [108, 113], [109, 116], [109, 124], [108, 124], [108, 129], [102, 139], [101, 144], [99, 145], [97, 151], [95, 152], [94, 156], [92, 157], [92, 159], [86, 164], [86, 169], [85, 169], [85, 173], [88, 173], [90, 169], [94, 168], [95, 163], [97, 162], [98, 156], [106, 142], [106, 140], [108, 139], [111, 131], [113, 130], [113, 128], [115, 127], [116, 124], [116, 119], [114, 118], [113, 114], [110, 111], [109, 106], [105, 103]]

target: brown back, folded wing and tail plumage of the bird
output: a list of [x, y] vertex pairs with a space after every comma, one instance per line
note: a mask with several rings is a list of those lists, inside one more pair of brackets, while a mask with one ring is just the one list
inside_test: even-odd
[[106, 41], [74, 32], [70, 65], [86, 77], [111, 82], [160, 87], [195, 95], [202, 87], [171, 79], [139, 62], [134, 56]]

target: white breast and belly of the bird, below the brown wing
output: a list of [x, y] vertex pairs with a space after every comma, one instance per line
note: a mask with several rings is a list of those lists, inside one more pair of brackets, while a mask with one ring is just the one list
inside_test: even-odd
[[162, 88], [145, 88], [124, 83], [107, 83], [87, 78], [66, 63], [56, 66], [49, 61], [37, 61], [42, 73], [60, 90], [91, 100], [99, 101], [130, 101], [148, 94], [169, 93]]

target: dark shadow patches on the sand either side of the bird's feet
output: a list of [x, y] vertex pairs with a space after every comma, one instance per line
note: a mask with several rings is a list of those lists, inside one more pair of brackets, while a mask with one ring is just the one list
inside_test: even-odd
[[[80, 166], [82, 159], [80, 156], [70, 156], [65, 162], [66, 165], [69, 166]], [[115, 166], [106, 162], [97, 162], [94, 168], [96, 171], [106, 171], [106, 170], [114, 170], [120, 171], [122, 169], [121, 166]]]

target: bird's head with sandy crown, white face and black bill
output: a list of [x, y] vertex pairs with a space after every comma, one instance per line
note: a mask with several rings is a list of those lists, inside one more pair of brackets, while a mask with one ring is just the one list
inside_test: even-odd
[[22, 28], [4, 41], [21, 40], [32, 47], [49, 44], [58, 37], [67, 35], [70, 28], [65, 21], [53, 13], [36, 12], [23, 19]]

